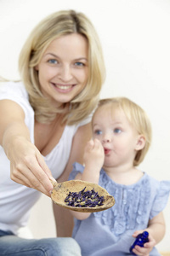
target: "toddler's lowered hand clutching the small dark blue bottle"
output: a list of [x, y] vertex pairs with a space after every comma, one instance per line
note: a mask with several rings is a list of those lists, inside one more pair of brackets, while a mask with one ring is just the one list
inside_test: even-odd
[[[133, 233], [133, 237], [137, 237], [140, 233], [144, 232], [144, 230], [138, 230]], [[144, 243], [144, 247], [135, 246], [133, 249], [133, 253], [136, 253], [139, 256], [149, 256], [153, 247], [156, 245], [156, 241], [153, 236], [149, 233], [149, 241]]]

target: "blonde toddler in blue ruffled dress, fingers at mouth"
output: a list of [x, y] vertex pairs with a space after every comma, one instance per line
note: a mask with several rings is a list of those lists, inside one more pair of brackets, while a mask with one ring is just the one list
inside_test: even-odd
[[144, 230], [149, 232], [149, 242], [135, 246], [133, 255], [161, 255], [155, 246], [165, 234], [162, 211], [170, 181], [157, 181], [138, 167], [150, 148], [150, 120], [127, 98], [105, 99], [94, 113], [92, 131], [85, 167], [75, 163], [71, 179], [99, 183], [116, 203], [104, 212], [72, 212], [76, 218], [73, 237], [82, 256], [132, 255], [129, 248]]

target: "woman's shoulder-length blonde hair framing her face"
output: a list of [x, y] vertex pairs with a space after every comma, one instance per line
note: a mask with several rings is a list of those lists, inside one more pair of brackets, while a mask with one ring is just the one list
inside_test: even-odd
[[[88, 82], [82, 92], [70, 102], [70, 108], [68, 104], [61, 104], [60, 108], [54, 109], [48, 99], [42, 95], [35, 67], [54, 38], [75, 32], [88, 40]], [[68, 125], [78, 123], [97, 105], [99, 92], [105, 80], [102, 49], [94, 26], [85, 15], [73, 10], [63, 10], [49, 15], [35, 27], [26, 40], [20, 52], [19, 70], [39, 122], [50, 122], [55, 118], [56, 113], [62, 113], [63, 121]]]

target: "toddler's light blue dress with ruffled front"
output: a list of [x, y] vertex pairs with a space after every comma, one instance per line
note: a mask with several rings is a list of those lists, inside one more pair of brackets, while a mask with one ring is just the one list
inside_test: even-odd
[[[69, 179], [74, 179], [83, 169], [75, 163]], [[122, 185], [101, 169], [99, 185], [114, 196], [115, 205], [84, 220], [75, 218], [72, 237], [82, 248], [82, 256], [131, 255], [133, 232], [146, 229], [149, 219], [166, 207], [170, 181], [160, 182], [144, 173], [137, 183]], [[154, 247], [150, 256], [157, 255], [161, 254]]]

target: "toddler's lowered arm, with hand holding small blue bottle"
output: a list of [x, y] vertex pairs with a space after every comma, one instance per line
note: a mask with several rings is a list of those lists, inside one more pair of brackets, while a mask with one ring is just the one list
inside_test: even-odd
[[[138, 230], [133, 233], [133, 237], [139, 235], [144, 230]], [[144, 247], [136, 246], [133, 249], [133, 253], [137, 255], [149, 256], [149, 253], [156, 246], [156, 244], [161, 241], [163, 236], [165, 235], [165, 221], [163, 217], [163, 212], [160, 212], [156, 217], [150, 219], [148, 228], [146, 231], [149, 232], [149, 242], [144, 243]]]

